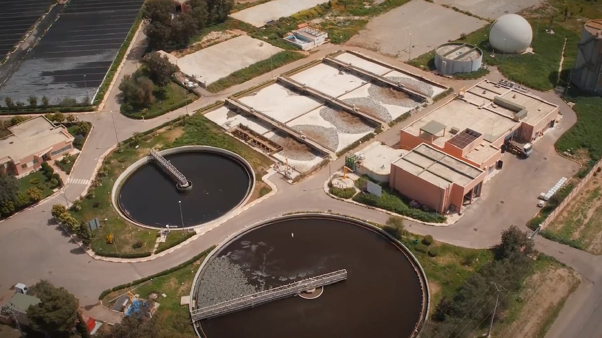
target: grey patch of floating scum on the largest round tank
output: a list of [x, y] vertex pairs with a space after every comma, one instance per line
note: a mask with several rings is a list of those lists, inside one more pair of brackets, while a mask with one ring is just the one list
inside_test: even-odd
[[211, 306], [265, 290], [249, 283], [241, 266], [231, 262], [227, 256], [217, 257], [207, 266], [200, 280], [197, 306]]

